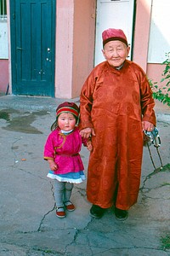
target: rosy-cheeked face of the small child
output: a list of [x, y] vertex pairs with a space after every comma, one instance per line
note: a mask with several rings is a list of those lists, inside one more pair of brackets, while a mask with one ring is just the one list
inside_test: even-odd
[[63, 131], [71, 131], [77, 123], [72, 113], [60, 113], [58, 117], [59, 128]]

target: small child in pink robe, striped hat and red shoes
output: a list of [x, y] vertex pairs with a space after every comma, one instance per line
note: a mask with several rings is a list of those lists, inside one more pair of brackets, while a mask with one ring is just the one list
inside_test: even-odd
[[87, 139], [82, 139], [77, 128], [79, 108], [73, 102], [64, 102], [56, 109], [56, 120], [51, 126], [44, 147], [44, 160], [48, 160], [48, 177], [54, 179], [54, 197], [56, 215], [65, 218], [65, 208], [74, 211], [71, 203], [73, 183], [82, 183], [85, 179], [84, 167], [79, 152], [82, 143], [92, 150]]

